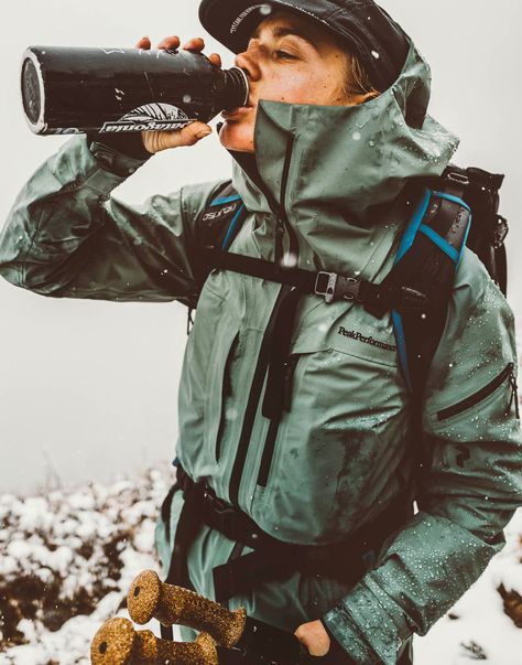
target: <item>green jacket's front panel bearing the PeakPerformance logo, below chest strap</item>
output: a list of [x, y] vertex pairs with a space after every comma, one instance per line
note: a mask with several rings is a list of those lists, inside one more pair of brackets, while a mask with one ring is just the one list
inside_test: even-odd
[[360, 310], [314, 297], [301, 304], [285, 410], [261, 446], [253, 515], [269, 530], [317, 539], [348, 532], [360, 510], [372, 507], [361, 504], [367, 486], [396, 490], [407, 392], [390, 321]]

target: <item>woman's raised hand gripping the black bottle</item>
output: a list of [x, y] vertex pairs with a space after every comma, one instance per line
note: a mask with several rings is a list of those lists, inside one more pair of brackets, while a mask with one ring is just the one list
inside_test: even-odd
[[[168, 36], [162, 40], [156, 49], [164, 50], [176, 50], [180, 49], [180, 37], [177, 36]], [[142, 37], [138, 44], [137, 49], [143, 49], [148, 51], [151, 47], [151, 40], [145, 36]], [[205, 49], [205, 42], [202, 37], [193, 37], [186, 44], [182, 46], [185, 51], [191, 51], [192, 53], [202, 53]], [[208, 56], [208, 60], [218, 67], [221, 66], [221, 58], [217, 53], [211, 53]], [[180, 148], [181, 146], [194, 146], [199, 140], [207, 137], [211, 133], [211, 127], [206, 125], [205, 122], [195, 121], [191, 122], [183, 129], [178, 129], [176, 131], [142, 131], [141, 139], [143, 141], [143, 146], [145, 149], [155, 154], [161, 150], [166, 150], [168, 148]]]

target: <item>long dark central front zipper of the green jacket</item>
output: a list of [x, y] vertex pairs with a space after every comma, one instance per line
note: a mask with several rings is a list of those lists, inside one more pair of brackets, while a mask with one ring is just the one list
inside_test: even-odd
[[[286, 151], [284, 157], [283, 164], [283, 173], [281, 178], [281, 192], [280, 192], [280, 204], [278, 205], [272, 194], [267, 191], [267, 187], [263, 186], [264, 183], [258, 182], [261, 179], [255, 180], [255, 184], [258, 184], [259, 189], [267, 196], [267, 201], [269, 202], [270, 208], [276, 218], [275, 226], [275, 247], [274, 247], [274, 259], [278, 259], [278, 255], [283, 254], [283, 236], [284, 230], [289, 233], [290, 239], [290, 253], [298, 257], [298, 243], [297, 237], [293, 228], [290, 226], [289, 217], [286, 215], [285, 210], [285, 195], [286, 195], [286, 181], [290, 172], [290, 162], [292, 159], [292, 149], [293, 149], [293, 137], [291, 137], [286, 143]], [[280, 260], [281, 260], [280, 259]], [[281, 264], [279, 264], [281, 265]], [[275, 301], [274, 308], [272, 310], [272, 314], [270, 317], [270, 321], [264, 331], [263, 341], [261, 342], [261, 348], [258, 356], [258, 363], [255, 365], [252, 385], [250, 387], [250, 394], [247, 403], [247, 409], [244, 412], [243, 425], [241, 428], [241, 435], [239, 437], [238, 450], [236, 452], [236, 459], [233, 461], [232, 472], [230, 475], [230, 486], [229, 486], [229, 500], [232, 504], [239, 504], [239, 487], [241, 484], [241, 478], [244, 469], [244, 463], [247, 461], [248, 449], [250, 444], [250, 438], [252, 435], [253, 423], [255, 420], [255, 415], [258, 412], [258, 405], [261, 399], [261, 393], [263, 389], [264, 377], [267, 375], [267, 369], [269, 365], [269, 356], [272, 344], [272, 331], [278, 319], [278, 313], [281, 307], [281, 302], [285, 299], [286, 294], [291, 291], [292, 287], [283, 286], [279, 292], [278, 299]], [[276, 423], [279, 426], [279, 422]], [[271, 422], [270, 429], [275, 427], [273, 422]], [[270, 431], [270, 430], [269, 430]], [[275, 431], [276, 435], [276, 431]], [[274, 439], [275, 440], [275, 439]]]

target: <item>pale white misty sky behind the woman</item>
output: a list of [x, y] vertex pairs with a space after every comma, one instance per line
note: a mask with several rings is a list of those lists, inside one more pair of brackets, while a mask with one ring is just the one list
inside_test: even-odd
[[[227, 0], [224, 0], [226, 2]], [[519, 0], [382, 0], [433, 69], [431, 112], [455, 131], [455, 158], [507, 174], [501, 212], [510, 301], [522, 313], [516, 249], [520, 183]], [[36, 137], [20, 99], [28, 45], [132, 46], [150, 35], [204, 35], [195, 0], [8, 0], [0, 71], [0, 225], [18, 191], [67, 138]], [[224, 49], [207, 35], [207, 52]], [[231, 54], [225, 56], [231, 64]], [[115, 193], [140, 203], [183, 184], [227, 178], [229, 155], [215, 135], [155, 155]], [[519, 259], [520, 260], [520, 259]], [[174, 457], [176, 395], [186, 334], [178, 303], [105, 303], [43, 298], [0, 280], [0, 492], [105, 481]]]

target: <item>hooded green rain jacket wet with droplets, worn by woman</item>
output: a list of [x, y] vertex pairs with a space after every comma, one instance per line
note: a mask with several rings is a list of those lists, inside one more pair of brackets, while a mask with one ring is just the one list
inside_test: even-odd
[[[287, 216], [287, 262], [382, 280], [411, 215], [393, 202], [410, 179], [441, 174], [457, 146], [432, 118], [422, 121], [428, 97], [429, 72], [412, 45], [396, 83], [362, 106], [261, 103], [257, 173], [233, 167], [249, 214], [231, 251], [274, 258], [278, 223], [268, 193]], [[0, 239], [1, 273], [53, 297], [196, 298], [196, 221], [220, 183], [153, 196], [141, 207], [111, 197], [141, 163], [85, 137], [66, 142], [14, 204]], [[318, 545], [371, 523], [411, 480], [413, 449], [423, 447], [431, 469], [422, 510], [387, 540], [357, 586], [295, 572], [230, 601], [291, 631], [323, 618], [356, 662], [392, 665], [405, 641], [426, 633], [478, 578], [521, 503], [514, 379], [504, 372], [516, 365], [513, 317], [466, 250], [428, 377], [423, 440], [412, 442], [390, 317], [303, 297], [291, 348], [292, 408], [267, 447], [262, 390], [253, 408], [247, 403], [281, 288], [210, 272], [181, 377], [177, 454], [195, 481], [236, 501], [269, 534]], [[454, 405], [460, 407], [448, 411]], [[182, 504], [178, 492], [170, 540], [164, 524], [156, 529], [165, 566]], [[211, 569], [233, 545], [203, 528], [188, 561], [196, 590], [214, 597]]]

